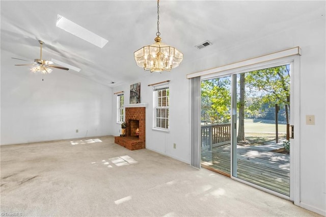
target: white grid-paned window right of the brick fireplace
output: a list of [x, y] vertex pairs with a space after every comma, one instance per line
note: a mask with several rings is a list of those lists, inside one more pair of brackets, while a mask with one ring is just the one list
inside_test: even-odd
[[154, 128], [169, 129], [169, 87], [154, 87]]

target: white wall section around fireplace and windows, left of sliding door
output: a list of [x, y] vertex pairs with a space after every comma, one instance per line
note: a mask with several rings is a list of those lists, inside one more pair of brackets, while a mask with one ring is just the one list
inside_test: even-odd
[[[139, 68], [142, 70], [141, 68]], [[137, 69], [136, 69], [137, 70]], [[131, 84], [115, 87], [113, 92], [124, 91], [125, 104], [129, 104], [130, 85], [141, 83], [141, 103], [146, 107], [146, 148], [166, 154], [189, 163], [189, 91], [185, 74], [176, 68], [173, 72], [151, 74]], [[144, 72], [150, 73], [150, 72]], [[152, 76], [153, 75], [153, 76]], [[170, 82], [170, 132], [153, 130], [153, 89], [149, 84], [171, 80]], [[181, 97], [181, 100], [180, 100]], [[186, 99], [184, 99], [186, 98]], [[116, 123], [116, 95], [113, 99], [113, 120], [115, 126], [112, 134], [120, 134], [120, 124]], [[173, 148], [176, 143], [176, 149]]]

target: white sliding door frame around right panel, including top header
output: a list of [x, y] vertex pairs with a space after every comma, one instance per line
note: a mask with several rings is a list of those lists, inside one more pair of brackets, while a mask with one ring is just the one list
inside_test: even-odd
[[[261, 189], [269, 194], [276, 195], [281, 198], [288, 199], [293, 201], [294, 204], [300, 204], [300, 55], [301, 50], [300, 48], [298, 55], [291, 55], [287, 57], [277, 58], [269, 61], [263, 61], [259, 63], [250, 64], [247, 66], [242, 67], [234, 67], [232, 69], [216, 72], [216, 73], [201, 73], [201, 80], [212, 79], [216, 77], [228, 76], [231, 75], [231, 83], [232, 86], [236, 87], [236, 80], [234, 79], [234, 75], [243, 73], [243, 72], [250, 72], [254, 70], [266, 69], [276, 66], [282, 66], [290, 64], [290, 125], [295, 126], [295, 134], [294, 139], [290, 139], [290, 196], [283, 195], [281, 193], [272, 191], [265, 187], [261, 187], [259, 185], [253, 184], [248, 181], [244, 181], [233, 176], [233, 171], [236, 170], [236, 151], [234, 151], [233, 143], [234, 140], [236, 141], [236, 132], [234, 132], [234, 126], [231, 127], [231, 178], [235, 179], [239, 182], [246, 183], [251, 185], [255, 188]], [[253, 60], [253, 59], [251, 59]], [[229, 67], [230, 68], [230, 67]], [[212, 69], [210, 69], [212, 70]], [[200, 73], [200, 72], [197, 72]], [[192, 74], [190, 74], [192, 75]], [[235, 84], [234, 84], [235, 83]], [[234, 99], [233, 92], [236, 91], [234, 87], [231, 88], [231, 123], [233, 124], [234, 117], [236, 118], [236, 107], [233, 106], [236, 103], [236, 99]], [[235, 107], [235, 108], [234, 108]]]

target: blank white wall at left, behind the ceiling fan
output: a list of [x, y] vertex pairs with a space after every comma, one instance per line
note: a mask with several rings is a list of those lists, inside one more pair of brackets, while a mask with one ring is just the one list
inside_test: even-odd
[[[108, 135], [112, 89], [54, 69], [1, 60], [1, 145]], [[78, 129], [78, 133], [76, 133]]]

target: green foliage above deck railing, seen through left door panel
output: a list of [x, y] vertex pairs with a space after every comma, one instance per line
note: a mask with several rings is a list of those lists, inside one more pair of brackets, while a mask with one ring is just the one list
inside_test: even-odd
[[231, 109], [230, 77], [203, 80], [201, 82], [202, 122], [229, 123]]

